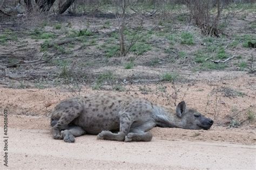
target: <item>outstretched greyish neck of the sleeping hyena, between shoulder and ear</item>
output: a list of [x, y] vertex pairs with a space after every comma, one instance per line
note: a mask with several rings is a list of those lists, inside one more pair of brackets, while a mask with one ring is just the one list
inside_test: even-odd
[[183, 128], [180, 118], [160, 105], [153, 106], [153, 118], [157, 126], [163, 128]]

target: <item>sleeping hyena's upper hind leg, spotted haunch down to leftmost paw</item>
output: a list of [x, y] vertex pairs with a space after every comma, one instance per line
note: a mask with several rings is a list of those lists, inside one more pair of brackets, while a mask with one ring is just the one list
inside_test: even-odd
[[[53, 111], [52, 119], [58, 119], [58, 122], [52, 127], [53, 139], [63, 139], [61, 130], [65, 130], [66, 127], [77, 118], [83, 110], [83, 102], [79, 98], [71, 98], [59, 103], [55, 111]], [[52, 121], [52, 123], [55, 123]]]

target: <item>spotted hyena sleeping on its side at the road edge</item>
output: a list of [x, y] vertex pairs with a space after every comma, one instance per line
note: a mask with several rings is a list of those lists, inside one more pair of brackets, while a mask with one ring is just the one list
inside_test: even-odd
[[212, 124], [212, 119], [187, 109], [184, 101], [174, 111], [142, 98], [111, 93], [68, 98], [51, 115], [53, 138], [66, 142], [85, 133], [105, 140], [150, 141], [152, 134], [147, 131], [155, 126], [208, 130]]

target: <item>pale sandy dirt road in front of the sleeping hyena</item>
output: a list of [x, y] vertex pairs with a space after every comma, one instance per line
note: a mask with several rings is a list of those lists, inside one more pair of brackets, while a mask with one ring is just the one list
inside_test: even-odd
[[[253, 169], [255, 145], [167, 141], [148, 143], [76, 138], [53, 140], [48, 130], [9, 129], [9, 168]], [[3, 166], [3, 165], [2, 165]]]

